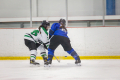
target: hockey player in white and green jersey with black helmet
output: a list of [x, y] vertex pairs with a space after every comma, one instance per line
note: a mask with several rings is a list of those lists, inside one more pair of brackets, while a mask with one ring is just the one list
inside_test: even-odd
[[36, 62], [37, 49], [40, 50], [40, 54], [44, 60], [44, 65], [47, 65], [47, 55], [46, 50], [49, 46], [48, 28], [50, 23], [46, 20], [42, 21], [39, 28], [33, 30], [30, 33], [24, 35], [25, 45], [29, 48], [30, 54], [30, 64], [40, 65]]

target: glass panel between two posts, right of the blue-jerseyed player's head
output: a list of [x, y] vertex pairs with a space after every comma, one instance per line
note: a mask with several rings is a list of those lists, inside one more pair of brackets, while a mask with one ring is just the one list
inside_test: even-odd
[[102, 0], [68, 0], [69, 27], [102, 26]]

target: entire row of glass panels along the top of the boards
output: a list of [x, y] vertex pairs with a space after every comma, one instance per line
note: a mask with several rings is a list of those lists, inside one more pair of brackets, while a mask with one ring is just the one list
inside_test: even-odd
[[[49, 20], [52, 24], [65, 18], [65, 2], [32, 0], [33, 27], [38, 27], [42, 20]], [[120, 26], [119, 4], [120, 0], [68, 0], [68, 27], [103, 26], [103, 11], [105, 26]], [[7, 21], [7, 18], [10, 19]], [[29, 20], [30, 0], [0, 0], [0, 28], [28, 28]]]

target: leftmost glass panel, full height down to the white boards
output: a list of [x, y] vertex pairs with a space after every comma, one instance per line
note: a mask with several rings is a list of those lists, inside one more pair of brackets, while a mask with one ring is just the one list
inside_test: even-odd
[[30, 0], [0, 0], [0, 28], [22, 28], [29, 17]]

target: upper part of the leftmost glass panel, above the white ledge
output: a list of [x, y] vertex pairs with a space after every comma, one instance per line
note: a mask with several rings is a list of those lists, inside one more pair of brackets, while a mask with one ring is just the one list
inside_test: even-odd
[[29, 0], [0, 0], [0, 18], [20, 18], [29, 16]]

